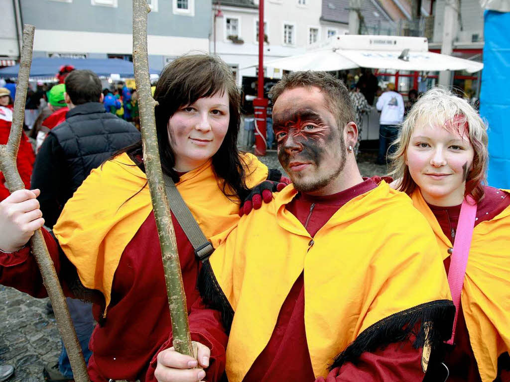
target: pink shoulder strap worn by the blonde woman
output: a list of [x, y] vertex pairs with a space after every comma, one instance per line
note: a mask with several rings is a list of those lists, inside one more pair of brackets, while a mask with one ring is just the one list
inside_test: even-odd
[[458, 217], [455, 243], [451, 255], [450, 270], [448, 271], [448, 284], [450, 285], [451, 297], [455, 305], [455, 320], [453, 321], [453, 332], [448, 344], [453, 344], [455, 329], [457, 327], [458, 310], [461, 306], [462, 286], [466, 275], [469, 249], [473, 238], [473, 228], [476, 217], [476, 202], [468, 195], [461, 206], [461, 214]]

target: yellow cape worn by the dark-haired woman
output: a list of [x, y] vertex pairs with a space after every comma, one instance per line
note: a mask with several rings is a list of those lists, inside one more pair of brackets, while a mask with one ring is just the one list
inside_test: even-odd
[[[267, 178], [267, 167], [256, 157], [244, 154], [241, 159], [248, 187]], [[105, 162], [69, 199], [53, 229], [82, 284], [101, 291], [106, 307], [122, 252], [152, 211], [146, 181], [125, 153]], [[239, 205], [221, 192], [211, 161], [184, 174], [177, 189], [207, 238], [221, 238], [237, 225]]]

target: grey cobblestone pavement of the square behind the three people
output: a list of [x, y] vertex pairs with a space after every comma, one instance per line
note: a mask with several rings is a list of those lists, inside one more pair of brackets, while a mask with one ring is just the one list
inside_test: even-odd
[[[363, 176], [382, 175], [385, 166], [374, 165], [375, 156], [363, 154], [359, 167]], [[279, 168], [276, 152], [269, 151], [261, 160], [271, 168]], [[57, 362], [60, 336], [55, 316], [45, 310], [47, 298], [38, 299], [0, 285], [0, 364], [15, 367], [8, 382], [44, 381], [42, 369]]]

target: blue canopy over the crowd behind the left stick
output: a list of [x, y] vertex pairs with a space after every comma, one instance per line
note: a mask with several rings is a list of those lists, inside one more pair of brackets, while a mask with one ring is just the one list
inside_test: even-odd
[[[72, 65], [76, 69], [89, 69], [97, 75], [109, 76], [112, 73], [121, 77], [134, 77], [133, 63], [120, 59], [61, 59], [35, 58], [30, 69], [31, 77], [50, 77], [58, 73], [62, 65]], [[19, 64], [0, 69], [0, 77], [17, 77]], [[159, 70], [149, 69], [150, 74], [159, 74]]]

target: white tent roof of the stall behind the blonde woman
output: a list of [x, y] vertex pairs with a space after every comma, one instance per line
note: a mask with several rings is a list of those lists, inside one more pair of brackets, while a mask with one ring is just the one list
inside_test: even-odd
[[285, 70], [344, 70], [356, 67], [477, 72], [483, 64], [428, 51], [423, 37], [340, 35], [298, 56], [265, 61], [264, 66]]

